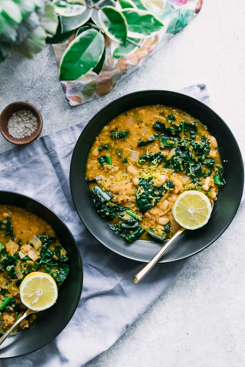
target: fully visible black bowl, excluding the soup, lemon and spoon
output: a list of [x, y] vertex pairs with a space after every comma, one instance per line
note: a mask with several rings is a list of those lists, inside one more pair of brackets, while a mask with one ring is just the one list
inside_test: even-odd
[[208, 224], [195, 231], [185, 231], [160, 260], [160, 262], [170, 262], [197, 254], [213, 243], [231, 223], [241, 201], [244, 184], [241, 153], [232, 132], [212, 109], [187, 95], [161, 90], [135, 92], [116, 99], [100, 110], [82, 131], [72, 155], [70, 185], [79, 217], [94, 237], [120, 255], [144, 262], [151, 260], [159, 251], [159, 244], [142, 240], [128, 244], [97, 215], [91, 203], [85, 172], [91, 145], [104, 125], [126, 110], [156, 104], [184, 110], [208, 127], [219, 144], [221, 159], [224, 162], [224, 177], [227, 182], [219, 191], [218, 200], [215, 202]]

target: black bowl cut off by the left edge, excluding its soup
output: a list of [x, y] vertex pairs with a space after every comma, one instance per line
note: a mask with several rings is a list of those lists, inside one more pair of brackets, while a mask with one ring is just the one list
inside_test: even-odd
[[15, 205], [31, 211], [50, 224], [68, 256], [69, 273], [50, 309], [37, 313], [31, 326], [8, 337], [0, 346], [0, 358], [17, 357], [34, 352], [57, 337], [71, 320], [80, 300], [83, 286], [83, 266], [76, 241], [65, 223], [51, 209], [29, 196], [0, 190], [0, 204]]

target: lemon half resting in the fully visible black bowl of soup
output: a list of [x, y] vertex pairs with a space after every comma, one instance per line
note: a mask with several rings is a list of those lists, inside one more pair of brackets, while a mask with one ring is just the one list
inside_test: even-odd
[[173, 217], [186, 229], [204, 226], [211, 215], [212, 206], [206, 195], [199, 191], [184, 191], [173, 206]]

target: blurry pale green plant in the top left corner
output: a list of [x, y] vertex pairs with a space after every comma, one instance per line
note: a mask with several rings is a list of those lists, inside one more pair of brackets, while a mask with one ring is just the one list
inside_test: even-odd
[[0, 61], [8, 52], [32, 58], [57, 30], [58, 15], [43, 0], [0, 1]]

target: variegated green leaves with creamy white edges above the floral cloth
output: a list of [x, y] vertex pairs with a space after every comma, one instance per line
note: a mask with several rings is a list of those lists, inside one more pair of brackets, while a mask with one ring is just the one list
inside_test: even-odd
[[75, 80], [90, 71], [99, 74], [105, 60], [105, 40], [111, 40], [114, 58], [140, 47], [141, 39], [157, 34], [163, 23], [141, 0], [54, 0], [59, 14], [57, 34], [48, 43], [64, 41], [75, 33], [60, 62], [60, 80]]

